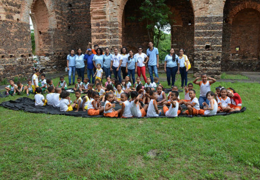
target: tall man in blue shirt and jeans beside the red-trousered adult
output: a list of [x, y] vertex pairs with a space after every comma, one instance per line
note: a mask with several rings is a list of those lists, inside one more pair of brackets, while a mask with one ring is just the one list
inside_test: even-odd
[[[151, 83], [153, 82], [152, 71], [154, 71], [154, 75], [159, 78], [158, 70], [159, 67], [159, 52], [156, 47], [153, 47], [153, 43], [148, 43], [149, 48], [146, 50], [146, 55], [148, 56], [148, 71], [151, 78]], [[158, 81], [159, 83], [159, 81]]]

